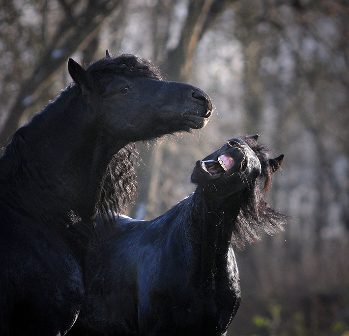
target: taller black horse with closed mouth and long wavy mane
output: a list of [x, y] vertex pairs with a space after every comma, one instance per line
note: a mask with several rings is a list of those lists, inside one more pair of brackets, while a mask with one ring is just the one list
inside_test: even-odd
[[75, 83], [0, 158], [1, 336], [69, 330], [96, 212], [110, 219], [134, 190], [127, 144], [204, 127], [212, 110], [202, 90], [135, 55], [107, 52], [87, 70], [69, 59], [68, 70]]

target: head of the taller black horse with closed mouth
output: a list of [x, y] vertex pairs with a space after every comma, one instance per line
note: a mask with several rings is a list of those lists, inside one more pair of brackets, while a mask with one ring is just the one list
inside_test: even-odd
[[103, 134], [125, 143], [200, 129], [212, 112], [204, 91], [164, 81], [157, 67], [136, 55], [107, 52], [86, 70], [69, 59], [68, 70], [95, 107]]

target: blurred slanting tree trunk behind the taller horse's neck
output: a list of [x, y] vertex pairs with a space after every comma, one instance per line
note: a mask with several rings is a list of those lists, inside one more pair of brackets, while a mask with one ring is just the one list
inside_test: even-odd
[[26, 109], [34, 104], [40, 92], [52, 80], [56, 70], [66, 62], [67, 58], [77, 50], [83, 50], [98, 35], [101, 27], [106, 24], [105, 18], [117, 13], [123, 0], [90, 1], [81, 20], [75, 24], [64, 20], [58, 29], [51, 45], [38, 62], [32, 76], [21, 86], [16, 103], [12, 106], [7, 120], [0, 133], [0, 145], [4, 145], [9, 136], [18, 128], [19, 120]]

